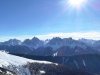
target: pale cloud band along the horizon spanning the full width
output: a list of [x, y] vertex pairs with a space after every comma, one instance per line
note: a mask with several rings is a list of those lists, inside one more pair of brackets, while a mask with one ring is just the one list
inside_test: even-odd
[[19, 39], [24, 41], [25, 39], [32, 39], [33, 37], [38, 37], [41, 40], [51, 39], [53, 37], [60, 37], [60, 38], [69, 38], [72, 37], [73, 39], [93, 39], [93, 40], [100, 40], [100, 32], [71, 32], [71, 33], [50, 33], [46, 35], [22, 35], [22, 36], [1, 36], [0, 41], [6, 41], [9, 39]]

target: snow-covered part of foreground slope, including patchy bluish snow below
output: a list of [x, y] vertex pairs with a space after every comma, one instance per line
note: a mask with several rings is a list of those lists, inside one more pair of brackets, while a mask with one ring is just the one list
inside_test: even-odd
[[[53, 64], [52, 62], [26, 59], [0, 51], [0, 72], [2, 73], [2, 68], [3, 71], [9, 71], [8, 74], [4, 75], [32, 75], [27, 67], [28, 63]], [[45, 73], [45, 71], [41, 70], [40, 73]]]

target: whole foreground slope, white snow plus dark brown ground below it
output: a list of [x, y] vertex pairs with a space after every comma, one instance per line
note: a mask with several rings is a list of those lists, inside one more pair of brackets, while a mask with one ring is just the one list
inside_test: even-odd
[[[85, 61], [83, 61], [85, 65]], [[37, 61], [0, 51], [0, 75], [96, 75], [70, 70], [65, 65]]]

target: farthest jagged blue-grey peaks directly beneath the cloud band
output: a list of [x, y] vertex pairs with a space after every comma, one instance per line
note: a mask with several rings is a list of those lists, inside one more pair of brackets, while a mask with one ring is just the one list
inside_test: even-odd
[[25, 39], [23, 42], [17, 39], [10, 39], [8, 41], [0, 42], [0, 45], [8, 45], [8, 46], [15, 46], [15, 45], [23, 45], [27, 46], [30, 48], [38, 48], [41, 46], [47, 47], [50, 46], [53, 49], [60, 48], [62, 46], [97, 46], [100, 44], [99, 40], [90, 40], [90, 39], [79, 39], [79, 40], [74, 40], [72, 38], [60, 38], [60, 37], [54, 37], [52, 39], [47, 39], [47, 40], [40, 40], [37, 37], [33, 37], [32, 39]]

